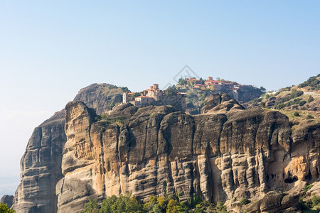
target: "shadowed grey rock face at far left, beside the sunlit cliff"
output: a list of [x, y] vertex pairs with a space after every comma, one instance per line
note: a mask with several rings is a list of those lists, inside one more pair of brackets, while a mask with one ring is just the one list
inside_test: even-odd
[[16, 212], [56, 212], [55, 183], [62, 177], [65, 111], [34, 129], [21, 158], [21, 183], [14, 196]]

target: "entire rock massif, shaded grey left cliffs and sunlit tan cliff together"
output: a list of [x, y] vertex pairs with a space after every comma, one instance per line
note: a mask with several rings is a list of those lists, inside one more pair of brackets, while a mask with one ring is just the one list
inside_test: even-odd
[[306, 182], [319, 183], [320, 124], [292, 129], [278, 111], [244, 109], [225, 94], [208, 97], [200, 115], [122, 104], [97, 121], [121, 102], [121, 89], [109, 88], [81, 89], [33, 131], [18, 213], [81, 212], [88, 197], [131, 193], [146, 201], [165, 192], [226, 202], [236, 212], [247, 197], [256, 201], [251, 209], [274, 212], [292, 207]]

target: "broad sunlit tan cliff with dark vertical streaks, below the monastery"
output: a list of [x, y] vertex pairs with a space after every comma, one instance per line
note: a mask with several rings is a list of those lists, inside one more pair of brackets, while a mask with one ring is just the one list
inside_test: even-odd
[[233, 199], [267, 196], [257, 209], [268, 212], [279, 209], [272, 199], [291, 205], [287, 195], [270, 191], [290, 190], [300, 180], [319, 181], [319, 124], [292, 133], [287, 116], [277, 111], [243, 109], [221, 96], [216, 100], [196, 116], [127, 104], [98, 122], [85, 104], [70, 102], [64, 178], [56, 186], [58, 212], [80, 212], [87, 197], [130, 193], [145, 201], [165, 192], [182, 201], [196, 193], [227, 201], [230, 208]]

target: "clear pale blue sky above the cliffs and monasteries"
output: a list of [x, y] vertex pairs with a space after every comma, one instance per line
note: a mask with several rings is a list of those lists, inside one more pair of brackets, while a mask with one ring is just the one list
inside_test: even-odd
[[34, 127], [82, 87], [175, 84], [188, 65], [276, 90], [320, 73], [320, 1], [0, 0], [0, 196]]

